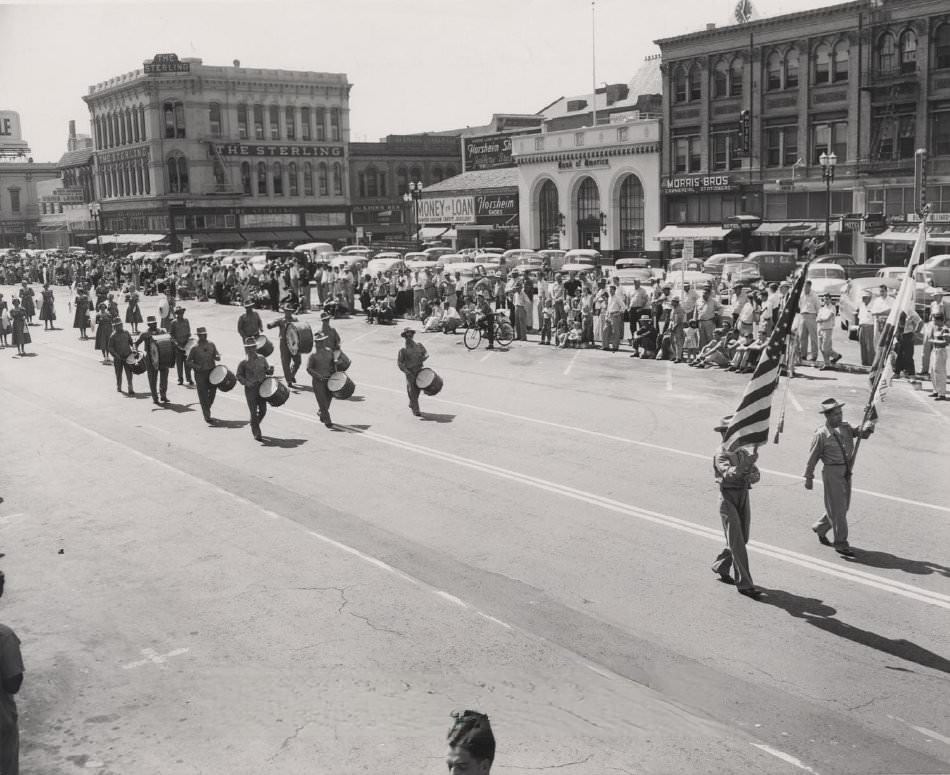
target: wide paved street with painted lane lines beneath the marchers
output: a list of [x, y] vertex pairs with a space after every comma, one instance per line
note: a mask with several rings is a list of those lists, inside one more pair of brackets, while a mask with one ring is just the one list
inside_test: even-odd
[[[184, 306], [234, 370], [240, 309]], [[713, 427], [747, 376], [419, 333], [445, 386], [417, 418], [402, 324], [333, 325], [355, 395], [328, 430], [301, 369], [263, 442], [240, 386], [209, 427], [174, 369], [165, 407], [145, 375], [120, 394], [71, 327], [0, 350], [23, 772], [444, 772], [464, 708], [499, 773], [950, 772], [947, 403], [891, 389], [844, 558], [802, 472], [820, 402], [858, 424], [867, 377], [800, 370], [753, 600], [710, 570]]]

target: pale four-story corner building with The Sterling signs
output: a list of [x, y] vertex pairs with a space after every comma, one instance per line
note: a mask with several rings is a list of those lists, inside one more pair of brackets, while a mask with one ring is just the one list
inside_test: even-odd
[[91, 86], [103, 231], [172, 247], [346, 239], [349, 91], [341, 73], [174, 54]]

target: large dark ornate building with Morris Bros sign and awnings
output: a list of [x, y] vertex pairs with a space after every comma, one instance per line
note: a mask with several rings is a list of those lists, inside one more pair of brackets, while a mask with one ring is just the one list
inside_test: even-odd
[[[657, 45], [667, 244], [796, 249], [827, 224], [830, 250], [901, 263], [917, 148], [931, 204], [950, 213], [945, 1], [858, 0]], [[829, 183], [820, 159], [832, 153]], [[931, 252], [944, 238], [934, 230]]]

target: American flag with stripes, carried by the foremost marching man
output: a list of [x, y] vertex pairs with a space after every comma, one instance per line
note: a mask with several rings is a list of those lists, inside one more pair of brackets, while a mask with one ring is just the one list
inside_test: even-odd
[[785, 356], [785, 345], [792, 321], [798, 314], [798, 301], [805, 287], [805, 275], [811, 262], [802, 267], [792, 287], [785, 306], [779, 314], [778, 323], [759, 356], [759, 362], [746, 385], [739, 408], [729, 423], [723, 443], [729, 449], [765, 444], [769, 439], [769, 420], [772, 417], [772, 399], [778, 387], [778, 378]]

